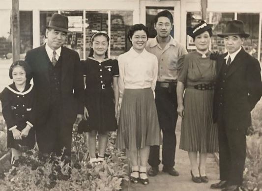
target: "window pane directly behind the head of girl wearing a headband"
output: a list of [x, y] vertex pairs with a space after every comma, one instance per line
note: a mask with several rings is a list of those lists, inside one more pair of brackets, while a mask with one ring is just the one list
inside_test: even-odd
[[91, 48], [92, 30], [106, 31], [108, 33], [108, 11], [86, 12], [86, 56], [89, 56]]

